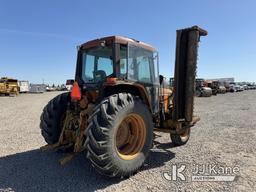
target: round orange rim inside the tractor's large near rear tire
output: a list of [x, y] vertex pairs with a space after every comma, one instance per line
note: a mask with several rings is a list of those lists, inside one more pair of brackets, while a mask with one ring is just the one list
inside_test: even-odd
[[144, 147], [146, 126], [137, 114], [129, 114], [120, 123], [115, 145], [118, 156], [123, 160], [136, 158]]

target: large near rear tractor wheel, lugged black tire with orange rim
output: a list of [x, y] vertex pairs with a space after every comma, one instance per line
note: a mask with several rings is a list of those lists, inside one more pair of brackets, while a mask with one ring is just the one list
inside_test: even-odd
[[86, 147], [93, 167], [110, 177], [127, 177], [144, 163], [153, 139], [148, 107], [129, 93], [104, 99], [89, 119]]

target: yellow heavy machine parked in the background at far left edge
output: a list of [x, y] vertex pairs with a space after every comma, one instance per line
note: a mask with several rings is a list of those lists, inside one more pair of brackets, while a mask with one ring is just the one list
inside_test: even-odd
[[18, 80], [9, 77], [2, 77], [0, 79], [0, 94], [19, 95]]

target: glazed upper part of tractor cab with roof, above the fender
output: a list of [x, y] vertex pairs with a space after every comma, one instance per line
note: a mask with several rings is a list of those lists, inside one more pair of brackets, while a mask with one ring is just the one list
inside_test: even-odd
[[76, 80], [96, 84], [115, 78], [153, 84], [158, 78], [157, 59], [155, 48], [134, 39], [96, 39], [79, 47]]

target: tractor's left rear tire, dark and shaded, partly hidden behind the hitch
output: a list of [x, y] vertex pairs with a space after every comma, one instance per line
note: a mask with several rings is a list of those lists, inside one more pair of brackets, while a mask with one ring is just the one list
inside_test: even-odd
[[61, 122], [67, 110], [69, 93], [62, 93], [54, 97], [44, 107], [41, 114], [41, 134], [48, 144], [58, 142], [61, 133]]

